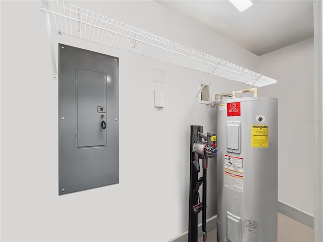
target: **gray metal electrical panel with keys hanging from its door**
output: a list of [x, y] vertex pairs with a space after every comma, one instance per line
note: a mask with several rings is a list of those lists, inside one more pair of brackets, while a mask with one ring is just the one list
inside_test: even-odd
[[119, 58], [59, 44], [59, 195], [119, 183]]

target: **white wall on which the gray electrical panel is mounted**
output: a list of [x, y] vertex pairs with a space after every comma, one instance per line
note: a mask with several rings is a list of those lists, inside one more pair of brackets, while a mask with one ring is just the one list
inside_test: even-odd
[[[78, 4], [257, 71], [258, 56], [155, 2]], [[1, 1], [2, 240], [165, 241], [187, 231], [190, 125], [214, 130], [214, 109], [195, 99], [207, 75], [55, 35], [56, 53], [61, 42], [120, 58], [120, 184], [58, 196], [58, 82], [39, 6]], [[166, 84], [153, 83], [154, 68]], [[217, 93], [245, 87], [211, 81]], [[163, 111], [153, 107], [154, 89], [165, 91]], [[214, 172], [210, 161], [208, 217]]]

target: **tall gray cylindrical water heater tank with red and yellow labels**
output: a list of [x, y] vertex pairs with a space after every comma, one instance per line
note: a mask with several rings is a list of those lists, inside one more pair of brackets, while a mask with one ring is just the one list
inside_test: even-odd
[[218, 242], [277, 241], [276, 98], [217, 105]]

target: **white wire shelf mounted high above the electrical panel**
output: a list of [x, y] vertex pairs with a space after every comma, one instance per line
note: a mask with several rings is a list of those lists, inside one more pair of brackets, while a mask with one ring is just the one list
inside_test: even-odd
[[58, 34], [67, 34], [256, 87], [277, 83], [275, 79], [224, 59], [161, 38], [65, 1], [42, 0], [42, 2], [43, 8], [40, 10], [49, 14], [49, 26]]

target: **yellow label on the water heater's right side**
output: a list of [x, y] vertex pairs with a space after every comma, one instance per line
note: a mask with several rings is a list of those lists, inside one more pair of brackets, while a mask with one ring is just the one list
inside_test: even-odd
[[268, 125], [252, 125], [251, 126], [251, 147], [268, 148]]

